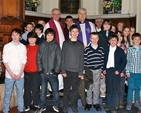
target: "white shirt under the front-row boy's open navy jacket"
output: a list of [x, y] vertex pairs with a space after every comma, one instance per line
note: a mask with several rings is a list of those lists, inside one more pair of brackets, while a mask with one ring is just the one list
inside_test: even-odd
[[116, 48], [117, 48], [117, 46], [115, 46], [115, 47], [110, 46], [106, 68], [115, 67], [114, 53], [115, 53]]

